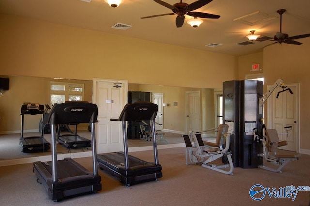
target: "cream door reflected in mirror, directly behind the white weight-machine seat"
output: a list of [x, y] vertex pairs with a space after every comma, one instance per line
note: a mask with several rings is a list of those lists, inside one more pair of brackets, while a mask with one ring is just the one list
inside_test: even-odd
[[200, 92], [186, 92], [186, 133], [200, 131]]

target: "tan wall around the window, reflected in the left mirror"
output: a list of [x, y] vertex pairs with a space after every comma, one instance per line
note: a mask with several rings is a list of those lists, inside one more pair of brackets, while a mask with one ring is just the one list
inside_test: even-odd
[[[42, 77], [1, 76], [10, 79], [9, 90], [0, 96], [0, 133], [16, 133], [21, 129], [20, 109], [23, 103], [50, 104], [49, 81], [84, 84], [84, 100], [92, 101], [92, 81], [55, 80]], [[42, 115], [25, 115], [24, 130], [38, 130]], [[79, 125], [85, 127], [85, 125]]]

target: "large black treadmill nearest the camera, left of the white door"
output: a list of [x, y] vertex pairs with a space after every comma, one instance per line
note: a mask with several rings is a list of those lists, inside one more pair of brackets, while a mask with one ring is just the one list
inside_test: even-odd
[[[49, 197], [57, 202], [69, 196], [96, 193], [101, 190], [101, 177], [98, 175], [95, 122], [98, 107], [86, 101], [70, 101], [55, 104], [50, 111], [48, 123], [51, 125], [52, 161], [34, 162], [33, 172], [46, 188]], [[90, 123], [92, 136], [93, 172], [71, 158], [57, 160], [56, 126], [58, 124]]]

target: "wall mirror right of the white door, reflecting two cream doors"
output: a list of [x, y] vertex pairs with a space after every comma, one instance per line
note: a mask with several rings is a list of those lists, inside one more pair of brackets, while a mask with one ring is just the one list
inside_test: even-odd
[[[218, 113], [221, 111], [221, 90], [133, 83], [128, 84], [128, 90], [141, 92], [143, 97], [145, 92], [150, 92], [151, 101], [158, 104], [155, 120], [158, 145], [183, 143], [182, 134], [190, 130], [199, 132], [214, 128], [221, 123], [221, 114]], [[128, 133], [134, 131], [135, 134], [128, 135], [128, 147], [152, 145], [149, 141], [152, 138], [148, 132], [149, 128], [147, 122], [129, 128]], [[211, 132], [203, 133], [203, 137], [214, 135]]]

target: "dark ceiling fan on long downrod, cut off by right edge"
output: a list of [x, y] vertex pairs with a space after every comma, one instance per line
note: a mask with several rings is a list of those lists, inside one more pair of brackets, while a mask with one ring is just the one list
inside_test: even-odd
[[[295, 44], [295, 45], [301, 45], [301, 42], [294, 41], [293, 39], [301, 39], [305, 37], [309, 37], [310, 34], [302, 34], [302, 35], [297, 35], [297, 36], [291, 36], [289, 37], [288, 34], [282, 33], [282, 14], [285, 12], [285, 9], [279, 9], [277, 12], [281, 16], [280, 18], [280, 32], [277, 32], [276, 35], [273, 37], [273, 39], [280, 44], [286, 43], [286, 44]], [[275, 42], [275, 43], [277, 43]]]

